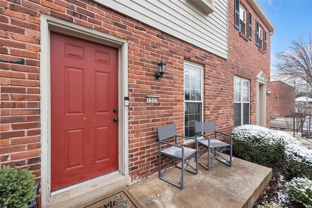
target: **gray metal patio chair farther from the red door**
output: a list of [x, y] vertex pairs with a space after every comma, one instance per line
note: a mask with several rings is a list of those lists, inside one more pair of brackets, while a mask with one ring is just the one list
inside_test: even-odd
[[[205, 132], [214, 132], [215, 138], [211, 139], [210, 136], [207, 136]], [[230, 143], [225, 143], [217, 139], [217, 135], [223, 135], [222, 138], [229, 137]], [[199, 139], [198, 136], [202, 136], [203, 140]], [[201, 162], [198, 162], [202, 167], [207, 170], [210, 170], [211, 162], [215, 159], [219, 160], [222, 163], [232, 167], [232, 148], [233, 148], [233, 136], [223, 132], [217, 132], [215, 127], [215, 121], [212, 122], [195, 122], [195, 138], [198, 139], [198, 148], [200, 146], [205, 148], [205, 151], [198, 154], [197, 160], [206, 152], [208, 152], [208, 164], [204, 165]], [[223, 151], [230, 151], [230, 159], [225, 158], [222, 155]], [[213, 157], [211, 154], [213, 154]]]

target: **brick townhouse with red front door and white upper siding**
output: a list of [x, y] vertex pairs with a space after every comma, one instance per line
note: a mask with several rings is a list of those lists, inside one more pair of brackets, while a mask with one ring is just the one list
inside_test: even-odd
[[156, 173], [157, 127], [270, 125], [275, 28], [255, 0], [139, 2], [0, 2], [0, 162], [34, 170], [43, 207]]

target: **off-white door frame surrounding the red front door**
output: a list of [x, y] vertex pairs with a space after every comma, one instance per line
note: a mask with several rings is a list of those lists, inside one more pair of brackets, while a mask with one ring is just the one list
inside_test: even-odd
[[[124, 97], [128, 97], [128, 40], [107, 35], [45, 14], [40, 16], [40, 28], [41, 205], [46, 206], [49, 205], [51, 198], [50, 31], [118, 48], [119, 172], [117, 171], [116, 174], [126, 176], [126, 181], [129, 182], [128, 108], [124, 105], [123, 101]], [[83, 182], [84, 185], [86, 183]], [[79, 186], [82, 185], [78, 184], [69, 189], [75, 189]], [[67, 188], [67, 190], [69, 189]]]

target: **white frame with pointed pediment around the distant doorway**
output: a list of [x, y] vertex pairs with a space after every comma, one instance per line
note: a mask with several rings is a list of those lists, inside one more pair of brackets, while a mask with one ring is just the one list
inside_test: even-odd
[[266, 127], [267, 120], [267, 77], [261, 71], [255, 78], [255, 94], [256, 94], [256, 125]]

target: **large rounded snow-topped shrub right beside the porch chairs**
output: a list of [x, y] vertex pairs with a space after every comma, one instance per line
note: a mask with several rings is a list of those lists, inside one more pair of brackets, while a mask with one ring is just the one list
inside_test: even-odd
[[284, 158], [283, 138], [267, 128], [244, 125], [235, 128], [232, 135], [233, 150], [239, 158], [262, 165], [279, 162]]

